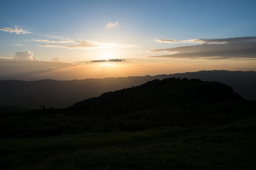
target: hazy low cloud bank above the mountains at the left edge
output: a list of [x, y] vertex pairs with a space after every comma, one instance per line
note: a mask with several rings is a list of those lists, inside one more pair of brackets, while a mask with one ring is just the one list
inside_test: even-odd
[[5, 60], [0, 62], [0, 79], [71, 79], [80, 70], [70, 72], [73, 67], [75, 64], [68, 62]]

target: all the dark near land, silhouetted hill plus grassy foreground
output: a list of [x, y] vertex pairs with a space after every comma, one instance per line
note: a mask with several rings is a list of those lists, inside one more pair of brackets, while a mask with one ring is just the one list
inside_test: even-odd
[[2, 112], [0, 168], [255, 169], [255, 113], [230, 86], [175, 78]]

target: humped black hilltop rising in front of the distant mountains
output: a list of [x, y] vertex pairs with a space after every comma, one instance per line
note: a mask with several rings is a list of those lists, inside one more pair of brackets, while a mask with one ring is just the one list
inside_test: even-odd
[[242, 97], [230, 86], [200, 79], [148, 81], [119, 91], [110, 91], [97, 98], [89, 98], [70, 107], [87, 113], [120, 113], [187, 103], [241, 102]]

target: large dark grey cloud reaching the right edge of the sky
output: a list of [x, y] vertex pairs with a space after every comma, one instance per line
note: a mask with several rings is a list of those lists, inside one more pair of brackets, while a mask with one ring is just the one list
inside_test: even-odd
[[256, 59], [256, 37], [200, 39], [202, 45], [156, 49], [151, 52], [171, 52], [151, 57], [189, 59]]

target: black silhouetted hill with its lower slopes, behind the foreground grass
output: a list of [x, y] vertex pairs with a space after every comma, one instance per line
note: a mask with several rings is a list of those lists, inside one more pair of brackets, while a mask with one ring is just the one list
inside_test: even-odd
[[225, 84], [199, 79], [155, 79], [88, 98], [68, 108], [2, 112], [0, 137], [227, 125], [255, 113], [255, 102], [245, 101]]

